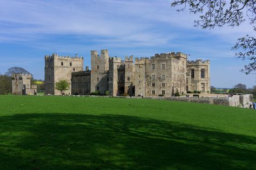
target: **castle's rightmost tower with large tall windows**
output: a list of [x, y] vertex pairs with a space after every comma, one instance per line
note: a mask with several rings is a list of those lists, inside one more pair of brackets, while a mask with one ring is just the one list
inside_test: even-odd
[[187, 91], [210, 93], [210, 60], [187, 61]]

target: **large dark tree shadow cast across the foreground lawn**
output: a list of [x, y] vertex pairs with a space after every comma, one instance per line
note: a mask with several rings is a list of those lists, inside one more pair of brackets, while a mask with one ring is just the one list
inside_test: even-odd
[[256, 138], [133, 116], [0, 117], [0, 169], [256, 169]]

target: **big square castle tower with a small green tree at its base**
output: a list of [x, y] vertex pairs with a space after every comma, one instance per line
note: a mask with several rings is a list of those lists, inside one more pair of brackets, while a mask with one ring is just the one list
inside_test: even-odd
[[65, 79], [69, 83], [69, 89], [63, 93], [71, 94], [71, 73], [83, 70], [84, 58], [70, 56], [58, 56], [58, 54], [45, 55], [44, 84], [45, 94], [61, 95], [60, 91], [55, 89], [55, 84], [59, 80]]

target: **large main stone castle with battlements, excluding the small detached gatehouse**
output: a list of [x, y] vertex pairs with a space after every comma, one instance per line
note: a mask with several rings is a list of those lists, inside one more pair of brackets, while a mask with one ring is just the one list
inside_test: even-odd
[[210, 93], [210, 61], [188, 61], [183, 53], [161, 53], [151, 58], [110, 57], [107, 49], [100, 55], [91, 51], [91, 70], [83, 70], [83, 57], [45, 55], [45, 94], [60, 95], [55, 83], [65, 79], [65, 94], [90, 95], [99, 91], [117, 96], [173, 96], [177, 91]]

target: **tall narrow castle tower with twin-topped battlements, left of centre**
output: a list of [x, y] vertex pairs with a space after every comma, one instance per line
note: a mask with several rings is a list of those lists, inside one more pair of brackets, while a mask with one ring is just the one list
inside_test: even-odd
[[91, 51], [91, 92], [99, 91], [105, 94], [108, 90], [109, 51], [102, 49], [100, 56], [97, 51]]

